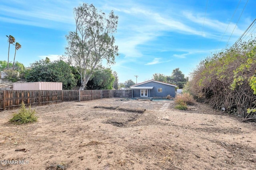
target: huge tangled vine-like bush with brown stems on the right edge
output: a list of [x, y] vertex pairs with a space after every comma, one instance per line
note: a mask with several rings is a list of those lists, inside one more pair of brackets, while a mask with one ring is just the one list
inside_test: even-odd
[[215, 109], [256, 120], [256, 40], [241, 42], [202, 61], [192, 73], [190, 91]]

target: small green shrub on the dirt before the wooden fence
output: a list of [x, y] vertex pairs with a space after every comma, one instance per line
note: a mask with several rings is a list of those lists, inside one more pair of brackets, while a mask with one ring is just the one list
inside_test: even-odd
[[21, 103], [21, 108], [18, 113], [14, 113], [9, 122], [17, 124], [32, 123], [37, 121], [36, 109], [32, 110], [31, 105], [26, 109], [24, 102]]

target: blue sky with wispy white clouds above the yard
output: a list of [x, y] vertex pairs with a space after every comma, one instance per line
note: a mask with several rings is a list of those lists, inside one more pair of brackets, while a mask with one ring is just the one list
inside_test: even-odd
[[2, 0], [0, 60], [8, 56], [6, 35], [22, 45], [16, 61], [25, 66], [64, 55], [65, 35], [75, 29], [73, 9], [83, 2], [119, 17], [114, 36], [120, 56], [110, 66], [119, 82], [171, 75], [178, 67], [189, 76], [202, 59], [232, 46], [256, 17], [255, 0]]

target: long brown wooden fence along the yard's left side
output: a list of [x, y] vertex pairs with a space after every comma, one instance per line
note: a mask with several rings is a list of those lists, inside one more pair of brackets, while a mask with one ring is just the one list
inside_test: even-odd
[[59, 91], [0, 91], [0, 110], [16, 109], [22, 101], [26, 105], [41, 106], [65, 101], [86, 101], [113, 97], [132, 97], [132, 90], [59, 90]]

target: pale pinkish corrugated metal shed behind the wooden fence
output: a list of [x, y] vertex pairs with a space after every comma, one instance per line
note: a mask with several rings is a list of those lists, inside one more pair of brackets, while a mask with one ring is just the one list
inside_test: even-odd
[[62, 90], [62, 82], [13, 83], [13, 90]]

